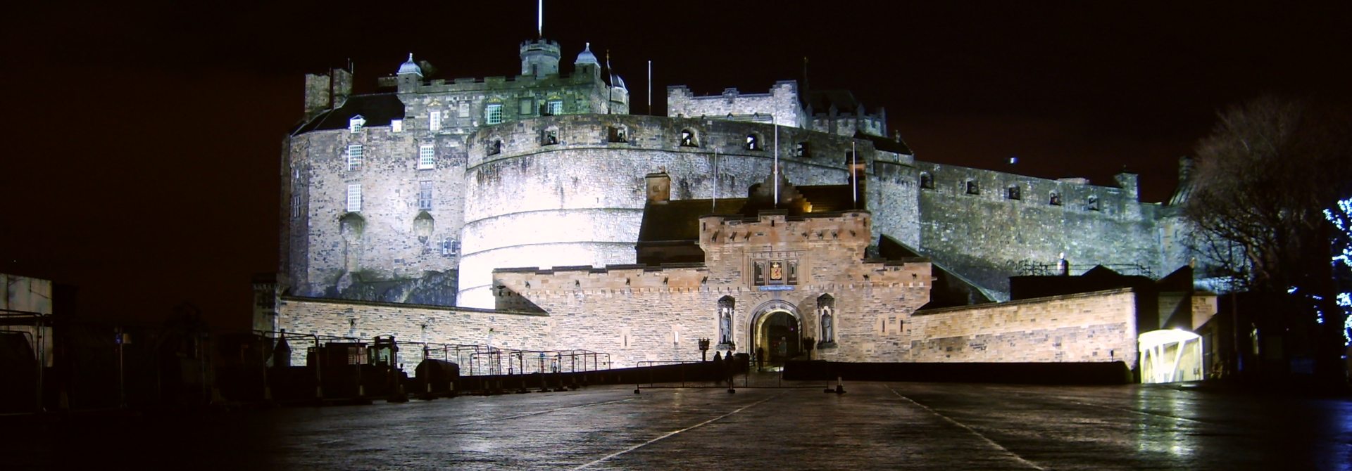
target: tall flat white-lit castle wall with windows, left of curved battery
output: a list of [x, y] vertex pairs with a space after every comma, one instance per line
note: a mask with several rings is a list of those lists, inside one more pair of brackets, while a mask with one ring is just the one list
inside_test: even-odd
[[[347, 147], [362, 162], [347, 166]], [[419, 146], [437, 153], [418, 169]], [[389, 127], [315, 131], [289, 140], [288, 270], [292, 294], [372, 301], [452, 304], [464, 215], [464, 146], [452, 135], [392, 132]], [[420, 182], [433, 186], [430, 231], [415, 220]], [[361, 211], [347, 212], [347, 185], [361, 185]], [[346, 219], [345, 219], [346, 217]], [[347, 224], [345, 224], [345, 221]], [[346, 228], [346, 232], [345, 232]], [[439, 274], [439, 277], [429, 277]]]

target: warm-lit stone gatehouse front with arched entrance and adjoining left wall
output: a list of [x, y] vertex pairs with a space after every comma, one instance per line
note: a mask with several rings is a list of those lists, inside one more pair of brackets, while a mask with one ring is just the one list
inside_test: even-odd
[[[754, 344], [754, 316], [771, 302], [792, 305], [806, 336], [821, 339], [817, 300], [822, 294], [834, 298], [837, 343], [817, 358], [892, 362], [909, 347], [882, 329], [929, 302], [930, 266], [923, 260], [864, 262], [871, 238], [867, 212], [804, 219], [763, 213], [753, 220], [711, 216], [700, 223], [704, 266], [515, 269], [493, 275], [552, 316], [556, 348], [604, 351], [617, 366], [699, 359], [698, 339], [718, 337], [718, 300], [723, 297], [735, 300], [733, 339], [741, 352]], [[760, 290], [750, 279], [749, 260], [784, 254], [799, 262], [799, 283], [791, 290]]]

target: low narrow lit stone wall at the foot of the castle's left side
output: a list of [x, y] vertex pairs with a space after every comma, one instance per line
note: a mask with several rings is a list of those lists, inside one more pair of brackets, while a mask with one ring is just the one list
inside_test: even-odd
[[[370, 341], [393, 335], [396, 341], [493, 345], [514, 350], [550, 350], [550, 317], [538, 313], [493, 312], [449, 306], [283, 297], [277, 328], [288, 335], [354, 337]], [[492, 332], [489, 332], [492, 329]], [[306, 343], [289, 340], [292, 364], [306, 364]], [[412, 371], [422, 359], [420, 345], [406, 344], [400, 360]]]

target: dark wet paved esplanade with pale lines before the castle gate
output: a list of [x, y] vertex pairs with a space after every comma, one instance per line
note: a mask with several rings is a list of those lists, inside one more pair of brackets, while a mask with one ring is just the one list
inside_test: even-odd
[[[769, 383], [763, 381], [761, 383]], [[591, 387], [0, 420], [0, 468], [1352, 470], [1352, 401], [1178, 386]]]

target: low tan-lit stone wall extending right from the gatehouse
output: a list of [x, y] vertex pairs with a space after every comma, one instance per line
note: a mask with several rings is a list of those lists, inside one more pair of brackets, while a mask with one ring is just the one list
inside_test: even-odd
[[894, 339], [906, 362], [1126, 362], [1136, 367], [1130, 289], [919, 310]]

